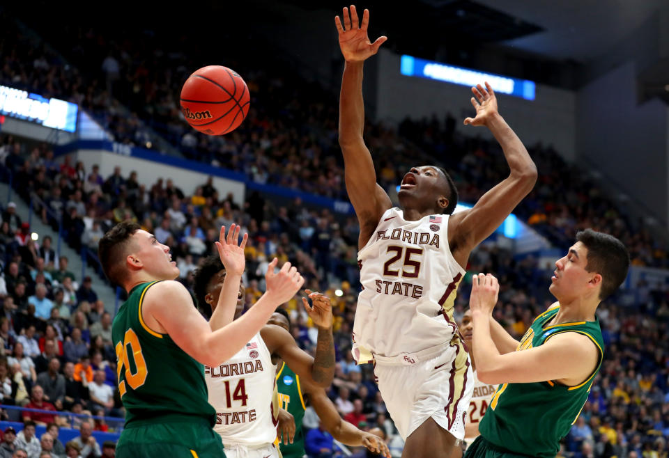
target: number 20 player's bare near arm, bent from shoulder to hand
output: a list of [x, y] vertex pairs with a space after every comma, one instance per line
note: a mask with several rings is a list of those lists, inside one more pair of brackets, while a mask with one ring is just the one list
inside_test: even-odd
[[194, 359], [206, 365], [217, 365], [234, 356], [251, 340], [277, 306], [295, 296], [305, 279], [286, 262], [278, 273], [268, 269], [266, 282], [267, 292], [254, 306], [217, 331], [210, 329], [206, 319], [194, 308], [190, 293], [177, 281], [162, 281], [150, 287], [141, 313], [144, 322], [156, 323], [158, 329], [154, 331], [169, 334], [176, 345]]

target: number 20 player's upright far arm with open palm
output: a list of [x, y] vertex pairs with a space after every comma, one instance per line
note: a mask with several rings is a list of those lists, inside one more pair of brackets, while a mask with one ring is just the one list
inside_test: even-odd
[[[242, 281], [246, 258], [244, 248], [249, 239], [248, 234], [244, 234], [242, 242], [238, 244], [240, 226], [232, 224], [228, 235], [225, 235], [225, 226], [221, 227], [219, 242], [216, 242], [218, 255], [225, 267], [225, 280], [221, 294], [218, 297], [218, 303], [209, 319], [209, 327], [212, 331], [222, 328], [229, 324], [235, 318], [235, 308], [237, 306], [237, 297], [239, 294], [239, 283]], [[272, 261], [268, 269], [274, 269], [276, 262]]]

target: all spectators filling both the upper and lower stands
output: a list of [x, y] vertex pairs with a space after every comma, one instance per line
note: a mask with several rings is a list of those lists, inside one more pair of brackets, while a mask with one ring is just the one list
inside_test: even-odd
[[[184, 54], [160, 51], [162, 46], [148, 35], [144, 40], [108, 42], [92, 29], [80, 29], [70, 34], [78, 47], [68, 50], [68, 58], [82, 65], [79, 70], [63, 65], [59, 55], [27, 37], [10, 18], [4, 19], [11, 33], [0, 38], [1, 81], [81, 104], [97, 113], [122, 143], [146, 147], [151, 134], [142, 126], [147, 123], [192, 159], [243, 172], [255, 182], [346, 197], [337, 145], [337, 99], [318, 86], [294, 75], [270, 76], [230, 63], [249, 85], [252, 108], [245, 123], [229, 136], [203, 136], [179, 119], [176, 88], [200, 66]], [[112, 52], [101, 54], [100, 49]], [[90, 56], [104, 57], [98, 62]], [[97, 76], [86, 79], [84, 74]], [[118, 100], [123, 100], [131, 116], [122, 114]], [[507, 168], [498, 145], [461, 136], [455, 122], [449, 116], [406, 120], [397, 129], [368, 123], [365, 136], [377, 159], [379, 182], [393, 189], [415, 165], [415, 158], [421, 157], [447, 166], [461, 200], [475, 202], [505, 176]], [[628, 246], [633, 264], [669, 267], [665, 248], [643, 224], [629, 221], [586, 173], [564, 162], [551, 148], [537, 145], [530, 153], [539, 168], [539, 182], [516, 210], [530, 226], [558, 246], [573, 242], [580, 228], [606, 230]], [[397, 438], [371, 367], [355, 365], [348, 351], [359, 275], [355, 218], [307, 210], [299, 199], [277, 207], [258, 193], [236, 202], [220, 195], [210, 181], [196, 189], [178, 189], [169, 179], [148, 186], [140, 183], [137, 172], [121, 168], [103, 177], [95, 167], [86, 170], [69, 158], [54, 159], [48, 145], [27, 147], [11, 136], [0, 136], [0, 159], [13, 174], [17, 194], [24, 200], [31, 192], [38, 196], [42, 203], [36, 203], [36, 214], [53, 228], [64, 228], [63, 237], [70, 246], [77, 250], [86, 246], [94, 257], [105, 230], [132, 219], [171, 246], [180, 281], [187, 287], [192, 287], [199, 260], [214, 252], [220, 226], [241, 224], [243, 232], [249, 233], [246, 306], [261, 296], [263, 276], [273, 257], [295, 264], [307, 278], [305, 287], [325, 291], [333, 301], [338, 363], [329, 395], [337, 409], [360, 427], [378, 426], [388, 437]], [[556, 193], [564, 183], [569, 188]], [[30, 233], [15, 206], [7, 205], [0, 226], [3, 404], [122, 416], [111, 347], [112, 317], [91, 289], [90, 279], [68, 271], [68, 259], [56, 255], [53, 240], [44, 237], [38, 243]], [[470, 275], [492, 272], [502, 285], [495, 317], [519, 338], [551, 301], [552, 270], [535, 258], [516, 259], [505, 249], [485, 244], [472, 255], [456, 301], [456, 316], [466, 304]], [[667, 456], [668, 304], [667, 291], [641, 283], [631, 305], [613, 298], [601, 307], [605, 361], [578, 422], [564, 441], [563, 456]], [[301, 313], [300, 303], [293, 299], [286, 308], [293, 316], [295, 339], [305, 349], [313, 349], [314, 329]], [[65, 417], [29, 412], [25, 418], [16, 418], [15, 412], [5, 410], [2, 415], [26, 420], [27, 427], [15, 440], [22, 438], [26, 447], [33, 444], [33, 451], [37, 446], [42, 450], [44, 444], [31, 433], [29, 422], [49, 428], [75, 424], [82, 430], [83, 441], [71, 448], [78, 448], [82, 456], [89, 429], [109, 429], [98, 420], [91, 425], [78, 418], [59, 420]], [[305, 415], [305, 426], [318, 428], [312, 409]], [[11, 436], [6, 430], [4, 437]], [[45, 442], [48, 450], [48, 437]]]

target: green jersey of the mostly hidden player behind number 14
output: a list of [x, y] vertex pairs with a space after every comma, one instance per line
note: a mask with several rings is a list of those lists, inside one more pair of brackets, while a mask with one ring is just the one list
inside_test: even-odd
[[295, 438], [293, 443], [279, 445], [284, 458], [302, 458], [305, 456], [305, 432], [302, 430], [302, 418], [305, 416], [305, 399], [302, 397], [300, 376], [295, 374], [286, 363], [282, 363], [277, 373], [279, 407], [289, 411], [295, 417]]

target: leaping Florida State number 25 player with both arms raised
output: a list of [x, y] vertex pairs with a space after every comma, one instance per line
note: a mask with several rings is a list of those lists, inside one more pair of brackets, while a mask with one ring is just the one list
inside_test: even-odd
[[346, 59], [339, 101], [339, 144], [346, 189], [360, 221], [358, 261], [363, 290], [353, 326], [358, 363], [376, 361], [378, 386], [406, 439], [405, 457], [449, 457], [463, 439], [472, 387], [468, 356], [452, 319], [456, 290], [470, 251], [488, 237], [537, 180], [523, 143], [497, 110], [493, 90], [472, 88], [475, 118], [502, 146], [509, 176], [476, 205], [452, 214], [457, 191], [443, 169], [416, 166], [399, 191], [403, 210], [376, 184], [364, 145], [362, 65], [386, 40], [367, 38], [369, 12], [355, 7], [335, 19]]

